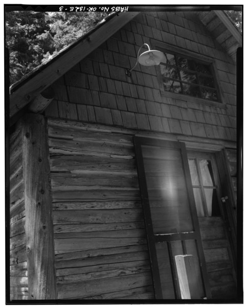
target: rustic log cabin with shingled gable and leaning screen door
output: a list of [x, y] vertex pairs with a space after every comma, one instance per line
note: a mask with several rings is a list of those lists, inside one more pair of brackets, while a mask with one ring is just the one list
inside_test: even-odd
[[11, 87], [11, 301], [241, 299], [240, 46], [223, 11], [113, 13]]

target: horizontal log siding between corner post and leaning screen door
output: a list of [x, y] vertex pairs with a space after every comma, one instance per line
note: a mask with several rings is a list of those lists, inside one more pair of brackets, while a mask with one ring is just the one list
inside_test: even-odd
[[48, 120], [58, 299], [150, 299], [132, 137]]

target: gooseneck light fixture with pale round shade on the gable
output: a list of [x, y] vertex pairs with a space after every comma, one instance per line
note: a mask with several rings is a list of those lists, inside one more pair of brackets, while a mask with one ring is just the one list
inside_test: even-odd
[[[139, 55], [141, 48], [143, 48], [144, 46], [147, 46], [149, 50]], [[125, 73], [127, 74], [128, 77], [130, 77], [131, 71], [135, 69], [138, 63], [144, 66], [154, 66], [154, 65], [159, 65], [162, 62], [163, 58], [164, 58], [163, 52], [158, 50], [150, 50], [148, 44], [143, 44], [139, 48], [136, 64], [131, 69], [126, 69]]]

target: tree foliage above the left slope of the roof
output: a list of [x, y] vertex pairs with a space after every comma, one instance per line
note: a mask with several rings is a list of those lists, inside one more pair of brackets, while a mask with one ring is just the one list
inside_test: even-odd
[[6, 12], [10, 84], [97, 25], [101, 12]]

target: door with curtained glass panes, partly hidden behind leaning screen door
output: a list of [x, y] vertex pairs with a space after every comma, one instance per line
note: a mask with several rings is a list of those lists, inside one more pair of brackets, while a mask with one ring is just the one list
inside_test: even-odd
[[216, 160], [212, 153], [199, 152], [188, 152], [188, 160], [212, 298], [234, 299], [233, 253]]

